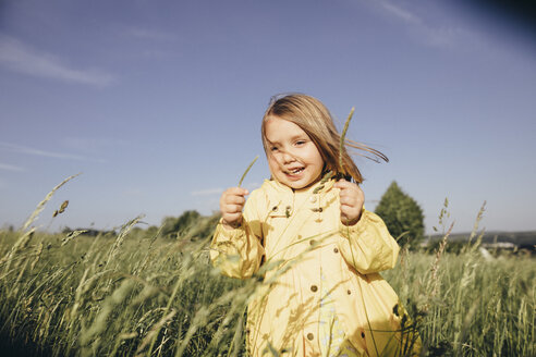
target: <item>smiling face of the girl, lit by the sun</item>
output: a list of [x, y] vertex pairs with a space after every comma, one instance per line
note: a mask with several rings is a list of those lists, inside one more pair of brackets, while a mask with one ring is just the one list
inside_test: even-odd
[[294, 188], [305, 188], [320, 180], [324, 160], [310, 137], [296, 124], [270, 118], [265, 124], [268, 165], [272, 176]]

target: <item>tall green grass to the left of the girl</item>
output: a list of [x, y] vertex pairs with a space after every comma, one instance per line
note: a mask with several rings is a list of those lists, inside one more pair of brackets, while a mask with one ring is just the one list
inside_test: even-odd
[[[1, 232], [2, 253], [17, 238]], [[118, 249], [120, 238], [78, 236], [61, 246], [61, 235], [35, 234], [14, 259], [17, 269], [1, 276], [2, 333], [57, 356], [226, 349], [243, 311], [229, 313], [236, 303], [227, 293], [247, 284], [209, 266], [205, 241], [123, 235]]]

